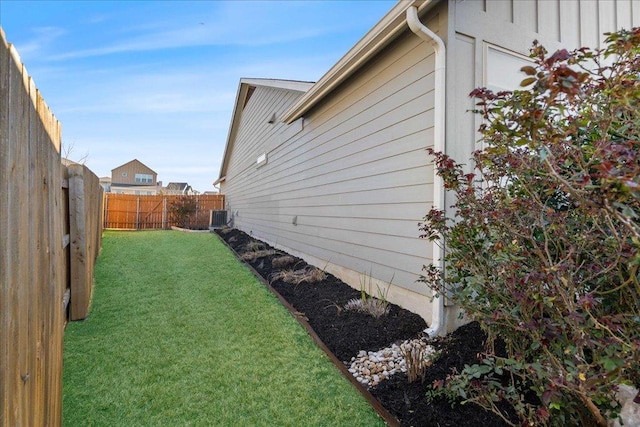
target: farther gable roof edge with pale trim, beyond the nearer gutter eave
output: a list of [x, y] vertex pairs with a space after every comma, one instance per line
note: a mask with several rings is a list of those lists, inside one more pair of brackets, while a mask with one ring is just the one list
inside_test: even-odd
[[238, 85], [238, 92], [236, 95], [236, 103], [233, 107], [233, 116], [231, 117], [231, 125], [229, 126], [229, 133], [227, 135], [227, 143], [224, 147], [224, 155], [222, 157], [222, 165], [220, 166], [219, 178], [213, 183], [217, 185], [224, 181], [224, 177], [229, 162], [229, 154], [231, 154], [231, 148], [236, 138], [238, 128], [240, 126], [240, 118], [242, 117], [242, 110], [251, 98], [256, 86], [271, 87], [276, 89], [284, 89], [293, 92], [305, 93], [309, 88], [314, 85], [313, 82], [303, 82], [296, 80], [278, 80], [278, 79], [251, 79], [242, 78]]

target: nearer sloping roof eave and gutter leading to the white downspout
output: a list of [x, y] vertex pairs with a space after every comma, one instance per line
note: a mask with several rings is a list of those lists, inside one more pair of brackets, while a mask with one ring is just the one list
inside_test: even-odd
[[[441, 0], [400, 0], [358, 43], [356, 43], [329, 71], [325, 73], [298, 101], [287, 110], [281, 120], [292, 123], [329, 95], [349, 76], [362, 68], [407, 26], [406, 12], [417, 6], [418, 12], [431, 9]], [[226, 152], [225, 152], [226, 154]]]

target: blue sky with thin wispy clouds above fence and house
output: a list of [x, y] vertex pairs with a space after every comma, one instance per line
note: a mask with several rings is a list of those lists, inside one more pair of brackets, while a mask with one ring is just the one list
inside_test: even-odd
[[395, 3], [0, 0], [0, 25], [72, 160], [110, 176], [137, 158], [203, 192], [240, 78], [317, 81]]

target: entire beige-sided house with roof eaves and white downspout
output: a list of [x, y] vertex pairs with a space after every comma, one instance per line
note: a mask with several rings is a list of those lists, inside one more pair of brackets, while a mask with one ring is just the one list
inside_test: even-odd
[[597, 47], [634, 25], [637, 0], [401, 1], [313, 85], [242, 79], [214, 185], [235, 227], [356, 289], [388, 287], [445, 333], [457, 307], [416, 282], [442, 256], [418, 222], [452, 203], [426, 148], [470, 158], [468, 94], [515, 88], [534, 40]]

